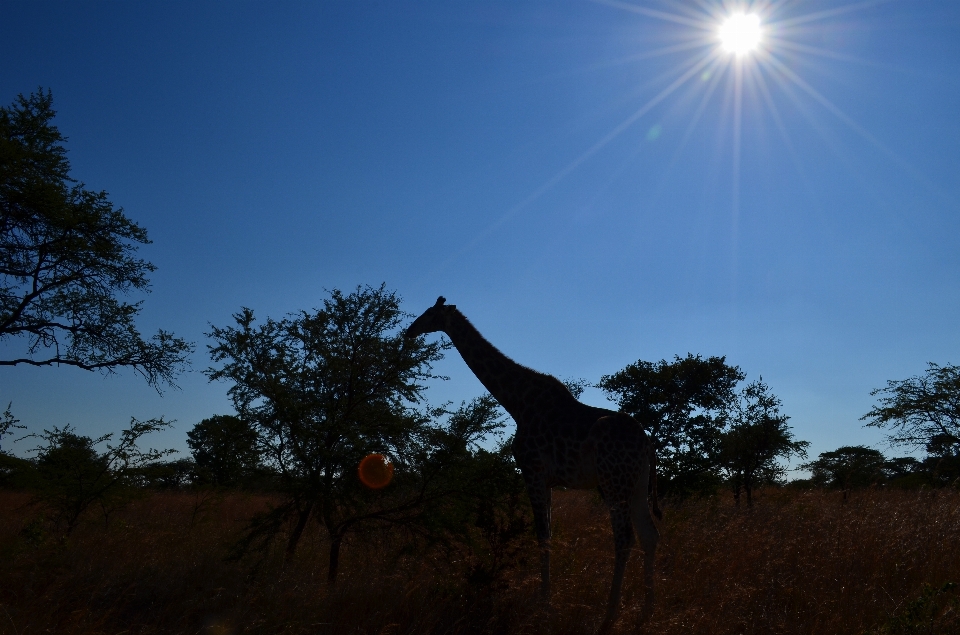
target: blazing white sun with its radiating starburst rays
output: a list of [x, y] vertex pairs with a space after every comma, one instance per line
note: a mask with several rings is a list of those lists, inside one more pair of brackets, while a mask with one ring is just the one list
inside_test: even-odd
[[[587, 163], [591, 157], [624, 135], [628, 129], [638, 125], [639, 122], [652, 124], [652, 127], [647, 128], [649, 132], [646, 143], [649, 144], [655, 137], [660, 136], [662, 130], [660, 123], [650, 120], [654, 113], [661, 113], [656, 116], [663, 117], [665, 116], [663, 113], [670, 109], [677, 108], [678, 111], [680, 108], [685, 109], [686, 105], [694, 100], [698, 101], [699, 105], [693, 110], [690, 121], [686, 123], [686, 130], [679, 136], [669, 165], [672, 167], [679, 160], [680, 153], [687, 143], [695, 139], [694, 134], [698, 125], [705, 114], [710, 112], [708, 106], [722, 101], [721, 111], [723, 116], [729, 116], [729, 119], [726, 119], [724, 125], [717, 131], [718, 143], [730, 142], [732, 149], [730, 175], [734, 222], [740, 213], [740, 159], [745, 111], [747, 125], [753, 123], [750, 121], [753, 113], [767, 112], [795, 161], [798, 160], [798, 156], [790, 139], [790, 128], [781, 117], [777, 104], [780, 99], [788, 100], [799, 109], [801, 115], [814, 124], [820, 134], [824, 134], [818, 123], [813, 121], [814, 111], [809, 109], [808, 104], [801, 101], [804, 96], [809, 98], [816, 107], [824, 108], [827, 113], [837, 118], [863, 140], [880, 149], [887, 156], [893, 157], [892, 150], [883, 146], [863, 125], [847, 115], [826, 95], [820, 93], [801, 76], [797, 69], [798, 65], [793, 63], [793, 59], [799, 56], [810, 56], [811, 66], [815, 66], [816, 58], [871, 64], [869, 60], [842, 55], [829, 48], [817, 46], [815, 41], [809, 40], [811, 36], [816, 37], [820, 33], [818, 23], [833, 22], [840, 25], [843, 24], [838, 21], [840, 16], [864, 11], [888, 0], [834, 0], [822, 4], [836, 6], [820, 7], [806, 13], [801, 13], [796, 8], [796, 5], [802, 3], [789, 0], [695, 0], [692, 2], [658, 0], [656, 3], [643, 0], [591, 1], [640, 16], [644, 20], [642, 23], [644, 28], [647, 28], [648, 19], [663, 22], [664, 27], [669, 27], [669, 30], [655, 37], [644, 35], [637, 38], [637, 41], [643, 42], [656, 42], [662, 39], [664, 40], [662, 45], [644, 48], [632, 55], [603, 62], [595, 68], [667, 56], [678, 59], [678, 63], [672, 69], [644, 83], [643, 88], [639, 90], [643, 93], [650, 91], [644, 103], [638, 104], [632, 113], [620, 120], [609, 132], [587, 146], [578, 156], [559, 168], [525, 198], [500, 214], [459, 252], [448, 257], [441, 265], [442, 268], [446, 268], [454, 260], [489, 238], [510, 218], [517, 216], [555, 188], [571, 173]], [[649, 6], [654, 4], [672, 5], [673, 10], [664, 6]], [[681, 57], [683, 59], [680, 59]], [[679, 95], [680, 98], [675, 106], [665, 107], [668, 98], [677, 96], [679, 91], [685, 94]], [[719, 99], [718, 94], [722, 96]], [[677, 128], [680, 127], [677, 126]], [[620, 171], [626, 169], [627, 165], [628, 162], [625, 161]], [[614, 179], [619, 178], [616, 176], [619, 174], [620, 172], [616, 172], [609, 182], [612, 183]]]

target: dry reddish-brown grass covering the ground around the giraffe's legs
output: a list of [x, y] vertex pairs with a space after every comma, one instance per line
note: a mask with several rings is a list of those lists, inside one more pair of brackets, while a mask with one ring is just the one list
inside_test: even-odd
[[[496, 591], [469, 587], [461, 564], [439, 553], [401, 556], [389, 539], [355, 539], [330, 591], [317, 532], [288, 560], [225, 560], [268, 504], [262, 496], [155, 494], [65, 542], [43, 535], [25, 500], [0, 493], [0, 633], [591, 633], [613, 561], [606, 512], [590, 492], [554, 496], [550, 612], [536, 601], [533, 536], [528, 564]], [[635, 555], [618, 632], [639, 628], [641, 566]], [[843, 501], [768, 490], [752, 510], [692, 501], [666, 509], [657, 606], [643, 631], [955, 633], [956, 590], [929, 607], [915, 602], [924, 585], [950, 581], [960, 582], [956, 491], [867, 490]], [[911, 610], [936, 619], [909, 630], [896, 620]]]

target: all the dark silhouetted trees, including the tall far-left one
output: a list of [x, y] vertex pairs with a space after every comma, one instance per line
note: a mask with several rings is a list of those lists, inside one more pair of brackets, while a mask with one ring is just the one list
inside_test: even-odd
[[[0, 107], [0, 340], [26, 338], [27, 346], [25, 356], [0, 364], [132, 368], [155, 387], [173, 385], [193, 345], [162, 330], [144, 339], [134, 325], [140, 304], [120, 298], [148, 289], [154, 267], [136, 253], [149, 242], [146, 230], [105, 192], [70, 176], [54, 115], [43, 90]], [[432, 364], [449, 343], [404, 340], [409, 317], [383, 285], [333, 290], [321, 308], [279, 319], [258, 322], [243, 308], [208, 333], [214, 366], [206, 372], [227, 383], [235, 412], [188, 432], [192, 458], [139, 448], [143, 435], [168, 425], [162, 419], [133, 420], [116, 439], [53, 427], [31, 435], [39, 445], [18, 457], [9, 442], [22, 426], [8, 405], [0, 414], [0, 484], [32, 491], [67, 534], [91, 510], [108, 519], [147, 489], [274, 492], [282, 503], [256, 519], [245, 547], [283, 535], [293, 552], [316, 526], [331, 543], [331, 576], [343, 541], [371, 527], [436, 541], [463, 534], [464, 523], [489, 528], [490, 518], [515, 528], [524, 512], [514, 499], [519, 476], [501, 410], [489, 396], [458, 408], [426, 402], [426, 383], [437, 379]], [[638, 360], [596, 387], [652, 438], [661, 494], [726, 487], [749, 505], [756, 488], [785, 482], [785, 462], [807, 458], [808, 444], [794, 437], [771, 387], [745, 380], [724, 357], [687, 354]], [[587, 383], [569, 385], [579, 395]], [[931, 363], [925, 374], [873, 394], [878, 404], [866, 425], [924, 458], [845, 446], [803, 464], [812, 477], [797, 485], [846, 491], [957, 482], [960, 369]], [[365, 488], [356, 475], [371, 453], [395, 469], [383, 490]]]

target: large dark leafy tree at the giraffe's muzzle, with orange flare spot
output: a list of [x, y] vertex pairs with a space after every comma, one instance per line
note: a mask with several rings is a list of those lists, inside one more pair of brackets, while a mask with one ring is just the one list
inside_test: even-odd
[[[502, 428], [502, 417], [489, 398], [453, 412], [423, 405], [423, 382], [434, 377], [443, 345], [404, 338], [408, 317], [396, 294], [362, 287], [332, 291], [313, 312], [257, 326], [244, 309], [236, 326], [213, 328], [210, 352], [222, 365], [207, 373], [231, 382], [234, 407], [256, 430], [261, 460], [285, 496], [241, 547], [265, 546], [289, 525], [292, 553], [315, 521], [330, 541], [332, 582], [350, 534], [392, 527], [443, 540], [463, 526], [454, 519], [470, 517], [468, 501], [503, 467], [477, 445]], [[395, 467], [382, 490], [357, 476], [371, 453]]]

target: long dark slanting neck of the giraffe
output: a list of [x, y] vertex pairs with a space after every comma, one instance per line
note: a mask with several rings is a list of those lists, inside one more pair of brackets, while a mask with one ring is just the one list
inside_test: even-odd
[[445, 332], [480, 383], [513, 414], [512, 411], [521, 403], [520, 395], [524, 386], [539, 373], [521, 366], [497, 350], [460, 311], [454, 310]]

